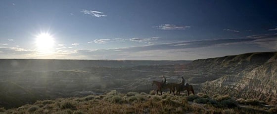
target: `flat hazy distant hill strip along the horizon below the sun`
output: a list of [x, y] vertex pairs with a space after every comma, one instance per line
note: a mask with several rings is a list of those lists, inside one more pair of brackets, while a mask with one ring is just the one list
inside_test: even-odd
[[0, 59], [0, 70], [71, 70], [84, 67], [133, 67], [141, 65], [172, 65], [189, 60], [70, 60], [70, 59]]

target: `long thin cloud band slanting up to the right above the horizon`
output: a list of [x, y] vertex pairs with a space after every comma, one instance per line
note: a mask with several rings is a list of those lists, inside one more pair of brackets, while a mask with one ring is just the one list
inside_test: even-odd
[[[101, 50], [76, 50], [77, 54], [88, 57], [103, 57], [99, 59], [105, 59], [106, 57], [127, 57], [128, 55], [139, 54], [143, 52], [155, 52], [155, 51], [166, 51], [166, 50], [182, 50], [184, 52], [189, 52], [189, 50], [198, 48], [208, 48], [208, 47], [218, 47], [218, 46], [231, 46], [236, 44], [248, 43], [268, 49], [277, 50], [275, 43], [267, 46], [265, 43], [276, 39], [277, 35], [274, 34], [262, 34], [262, 35], [252, 35], [243, 38], [232, 38], [232, 39], [212, 39], [212, 40], [198, 40], [198, 41], [184, 41], [184, 42], [174, 42], [167, 44], [153, 44], [146, 46], [137, 47], [127, 47], [127, 48], [117, 48], [117, 49], [101, 49]], [[133, 38], [133, 40], [141, 40], [141, 38]], [[276, 41], [276, 40], [274, 40]], [[145, 54], [142, 54], [145, 55]]]

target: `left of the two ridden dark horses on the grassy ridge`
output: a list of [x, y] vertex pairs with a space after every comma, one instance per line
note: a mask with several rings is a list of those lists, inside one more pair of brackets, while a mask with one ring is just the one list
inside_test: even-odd
[[[164, 85], [162, 82], [158, 82], [158, 81], [152, 81], [152, 86], [153, 85], [157, 85], [157, 94], [158, 94], [158, 91], [160, 91], [161, 92], [161, 94], [162, 94], [162, 89], [167, 89], [167, 88], [169, 88], [170, 89], [170, 93], [171, 93], [171, 91], [173, 92], [173, 94], [175, 95], [175, 86], [174, 85], [172, 85], [172, 83], [170, 83], [170, 84], [166, 84], [166, 85]], [[169, 93], [169, 94], [170, 94]]]

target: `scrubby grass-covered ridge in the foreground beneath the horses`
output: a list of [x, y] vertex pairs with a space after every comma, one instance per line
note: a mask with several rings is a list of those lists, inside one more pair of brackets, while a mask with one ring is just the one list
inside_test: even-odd
[[[185, 94], [173, 96], [128, 92], [122, 94], [112, 90], [104, 95], [89, 95], [81, 98], [64, 98], [37, 101], [33, 105], [24, 105], [17, 109], [0, 108], [0, 114], [270, 114], [276, 113], [276, 107], [262, 107], [262, 102], [232, 99], [229, 95]], [[245, 102], [248, 101], [248, 102]], [[244, 106], [241, 106], [244, 103]]]

